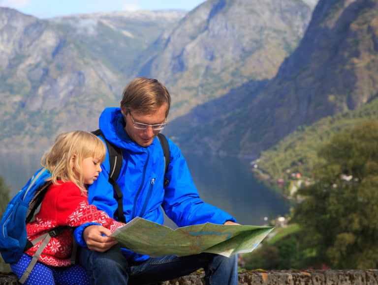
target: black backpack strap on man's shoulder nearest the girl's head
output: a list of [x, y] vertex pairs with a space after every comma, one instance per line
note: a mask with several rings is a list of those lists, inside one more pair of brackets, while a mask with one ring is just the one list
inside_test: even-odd
[[113, 190], [115, 192], [115, 198], [118, 203], [117, 208], [117, 217], [118, 220], [122, 223], [126, 223], [125, 216], [124, 216], [124, 205], [123, 205], [123, 197], [122, 191], [120, 189], [120, 186], [117, 184], [118, 176], [120, 175], [122, 164], [123, 164], [123, 157], [122, 157], [122, 151], [119, 147], [115, 146], [113, 143], [106, 140], [104, 134], [100, 129], [97, 129], [92, 132], [96, 136], [101, 136], [105, 143], [106, 147], [108, 149], [109, 153], [109, 179], [108, 182], [113, 186]]

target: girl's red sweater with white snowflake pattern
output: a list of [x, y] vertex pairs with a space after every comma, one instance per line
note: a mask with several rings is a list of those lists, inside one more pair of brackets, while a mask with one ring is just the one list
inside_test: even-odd
[[[35, 220], [26, 225], [29, 240], [58, 226], [77, 227], [93, 222], [114, 231], [123, 225], [110, 218], [105, 212], [99, 211], [94, 205], [89, 205], [87, 195], [82, 195], [79, 187], [73, 182], [58, 182], [61, 184], [52, 184], [48, 188], [41, 208], [35, 215]], [[72, 232], [73, 228], [67, 228], [59, 235], [52, 237], [38, 261], [52, 266], [71, 265]], [[37, 243], [25, 253], [33, 256], [41, 243]]]

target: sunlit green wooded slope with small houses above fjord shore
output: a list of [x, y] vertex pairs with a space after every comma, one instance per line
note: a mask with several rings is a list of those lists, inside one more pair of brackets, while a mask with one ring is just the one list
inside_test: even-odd
[[358, 110], [328, 116], [312, 125], [300, 126], [284, 140], [261, 152], [258, 161], [255, 161], [254, 173], [269, 181], [271, 186], [284, 195], [291, 196], [295, 192], [293, 187], [309, 183], [313, 169], [322, 163], [322, 158], [317, 156], [319, 147], [328, 143], [335, 134], [366, 120], [378, 120], [377, 98]]

